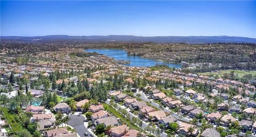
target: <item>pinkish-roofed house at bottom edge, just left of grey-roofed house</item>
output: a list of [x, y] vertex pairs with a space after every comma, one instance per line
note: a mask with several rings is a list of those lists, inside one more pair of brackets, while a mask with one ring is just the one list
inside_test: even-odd
[[[191, 134], [189, 133], [188, 129], [189, 127], [193, 127], [193, 129], [195, 129]], [[191, 135], [191, 136], [197, 136], [199, 130], [196, 129], [196, 126], [195, 125], [192, 125], [192, 124], [188, 124], [188, 123], [181, 123], [181, 125], [179, 126], [178, 128], [178, 131], [177, 133], [178, 134], [183, 134], [183, 135]]]

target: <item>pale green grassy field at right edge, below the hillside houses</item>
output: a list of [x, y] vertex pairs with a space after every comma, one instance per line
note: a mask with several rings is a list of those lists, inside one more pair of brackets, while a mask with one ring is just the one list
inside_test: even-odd
[[218, 75], [220, 77], [224, 73], [230, 73], [231, 71], [234, 71], [235, 75], [237, 74], [239, 77], [242, 77], [245, 74], [256, 75], [256, 71], [241, 71], [241, 70], [221, 70], [219, 72], [204, 72], [204, 73], [199, 73], [199, 75]]

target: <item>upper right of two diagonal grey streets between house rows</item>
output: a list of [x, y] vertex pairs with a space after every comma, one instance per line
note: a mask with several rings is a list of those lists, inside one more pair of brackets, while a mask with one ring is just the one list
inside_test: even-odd
[[[145, 93], [143, 93], [143, 92], [135, 92], [134, 96], [136, 96], [137, 94], [140, 94], [140, 98], [142, 100], [147, 101], [147, 102], [151, 102], [152, 106], [159, 108], [159, 105], [156, 102], [149, 100], [146, 97]], [[182, 121], [182, 122], [185, 122], [185, 123], [190, 123], [190, 120], [188, 118], [180, 117], [178, 114], [175, 114], [175, 113], [171, 112], [171, 110], [169, 110], [167, 108], [164, 108], [163, 111], [167, 112], [167, 113], [170, 113], [174, 118], [178, 119], [179, 121]], [[201, 126], [201, 123], [198, 123], [198, 125]]]

